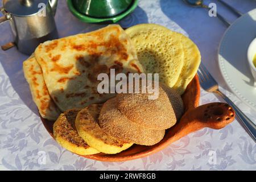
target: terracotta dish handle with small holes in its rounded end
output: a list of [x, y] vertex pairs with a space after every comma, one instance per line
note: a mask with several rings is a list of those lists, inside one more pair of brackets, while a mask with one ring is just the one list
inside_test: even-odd
[[180, 138], [204, 127], [222, 129], [235, 118], [232, 107], [226, 103], [214, 102], [189, 109], [177, 124], [171, 128], [168, 140], [175, 142]]

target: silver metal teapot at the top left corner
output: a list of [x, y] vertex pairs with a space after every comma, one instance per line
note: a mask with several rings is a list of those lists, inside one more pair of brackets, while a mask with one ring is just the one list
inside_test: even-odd
[[57, 0], [3, 0], [0, 24], [9, 21], [14, 42], [2, 49], [17, 46], [20, 52], [31, 55], [40, 43], [57, 39], [56, 7]]

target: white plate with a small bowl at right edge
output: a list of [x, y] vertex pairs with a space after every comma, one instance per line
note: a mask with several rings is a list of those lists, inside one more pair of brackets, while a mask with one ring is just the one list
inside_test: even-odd
[[256, 37], [256, 9], [228, 28], [218, 50], [221, 74], [230, 90], [256, 110], [256, 88], [247, 61], [247, 49]]

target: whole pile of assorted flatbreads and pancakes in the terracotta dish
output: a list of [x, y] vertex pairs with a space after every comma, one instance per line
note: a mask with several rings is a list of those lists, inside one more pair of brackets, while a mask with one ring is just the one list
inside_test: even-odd
[[[180, 95], [200, 61], [192, 40], [165, 27], [140, 24], [124, 31], [110, 25], [40, 44], [23, 71], [40, 115], [55, 121], [53, 135], [61, 146], [80, 155], [117, 154], [134, 143], [151, 146], [163, 139], [183, 115]], [[159, 73], [159, 97], [98, 93], [98, 76], [110, 76], [110, 69]]]

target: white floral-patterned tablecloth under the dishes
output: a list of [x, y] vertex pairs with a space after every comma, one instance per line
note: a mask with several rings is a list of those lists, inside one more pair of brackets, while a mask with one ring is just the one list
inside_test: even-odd
[[[242, 13], [256, 8], [254, 0], [225, 0]], [[237, 17], [217, 1], [218, 13], [230, 22]], [[205, 1], [210, 3], [210, 1]], [[65, 1], [59, 1], [55, 16], [60, 37], [96, 30], [106, 25], [82, 23]], [[158, 23], [189, 36], [199, 47], [202, 61], [226, 93], [253, 121], [256, 113], [233, 96], [221, 77], [218, 45], [225, 24], [204, 9], [188, 7], [181, 0], [141, 0], [123, 27]], [[9, 23], [1, 25], [1, 44], [11, 41]], [[44, 128], [23, 76], [22, 62], [28, 56], [16, 48], [0, 50], [0, 169], [7, 170], [255, 170], [256, 144], [237, 121], [221, 130], [202, 129], [189, 134], [147, 158], [128, 162], [98, 162], [65, 150]], [[200, 104], [223, 102], [201, 90]], [[43, 159], [43, 160], [42, 160]], [[44, 160], [45, 159], [45, 160]]]

